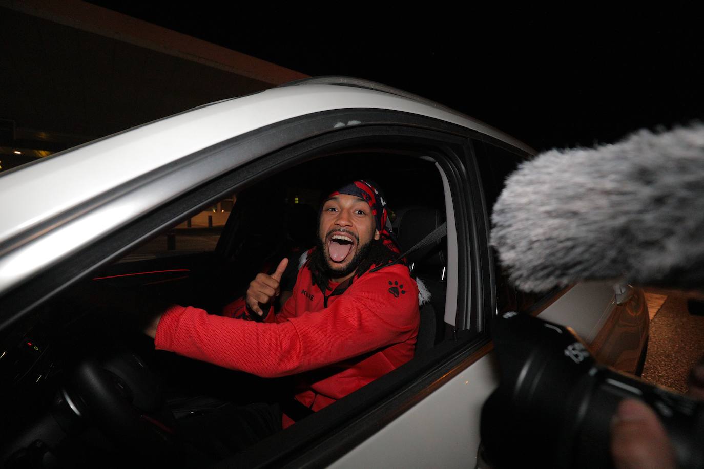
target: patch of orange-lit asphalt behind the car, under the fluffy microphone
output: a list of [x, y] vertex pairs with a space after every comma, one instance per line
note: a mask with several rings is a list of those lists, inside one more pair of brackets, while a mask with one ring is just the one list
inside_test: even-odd
[[667, 300], [650, 321], [643, 379], [686, 393], [689, 370], [704, 355], [704, 316], [689, 314], [684, 295], [646, 293], [665, 294]]

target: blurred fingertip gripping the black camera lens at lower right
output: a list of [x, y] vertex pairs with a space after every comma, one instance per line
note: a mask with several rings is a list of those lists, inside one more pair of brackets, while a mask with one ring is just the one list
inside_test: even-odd
[[658, 416], [643, 402], [624, 399], [611, 428], [611, 454], [617, 469], [675, 469], [674, 450]]

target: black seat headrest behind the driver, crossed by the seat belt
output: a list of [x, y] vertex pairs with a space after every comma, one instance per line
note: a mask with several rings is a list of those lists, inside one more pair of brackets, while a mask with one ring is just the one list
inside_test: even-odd
[[[399, 211], [400, 212], [400, 211]], [[444, 220], [444, 213], [436, 208], [414, 207], [398, 215], [398, 243], [406, 251], [432, 233]], [[447, 266], [447, 238], [408, 255], [408, 261], [423, 267]]]

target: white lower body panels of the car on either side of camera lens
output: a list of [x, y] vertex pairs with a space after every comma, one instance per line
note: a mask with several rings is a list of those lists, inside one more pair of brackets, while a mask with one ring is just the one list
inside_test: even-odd
[[[614, 311], [613, 297], [608, 283], [577, 284], [539, 317], [593, 338]], [[482, 405], [496, 386], [496, 356], [485, 352], [332, 467], [473, 467]]]

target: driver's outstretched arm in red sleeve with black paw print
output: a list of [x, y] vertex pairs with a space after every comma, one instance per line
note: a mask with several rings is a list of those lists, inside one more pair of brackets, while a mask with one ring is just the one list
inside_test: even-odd
[[280, 323], [172, 307], [158, 323], [155, 345], [226, 368], [277, 377], [403, 342], [417, 333], [417, 326], [417, 285], [405, 266], [391, 266], [357, 278], [330, 307]]

